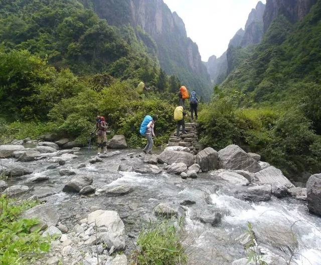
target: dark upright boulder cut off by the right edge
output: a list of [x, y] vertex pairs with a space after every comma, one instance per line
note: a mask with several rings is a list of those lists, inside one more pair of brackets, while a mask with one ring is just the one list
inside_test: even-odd
[[306, 192], [309, 211], [321, 216], [321, 174], [309, 177]]

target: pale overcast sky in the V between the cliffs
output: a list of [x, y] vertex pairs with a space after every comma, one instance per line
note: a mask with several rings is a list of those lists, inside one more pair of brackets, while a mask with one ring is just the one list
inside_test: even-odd
[[[221, 56], [259, 0], [164, 0], [183, 19], [203, 61]], [[265, 0], [262, 1], [264, 4]]]

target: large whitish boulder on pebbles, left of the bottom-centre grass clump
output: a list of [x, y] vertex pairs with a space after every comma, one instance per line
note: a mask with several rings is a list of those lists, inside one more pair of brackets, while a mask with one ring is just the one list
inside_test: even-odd
[[97, 210], [88, 215], [88, 224], [95, 224], [97, 243], [105, 243], [108, 248], [125, 248], [125, 226], [116, 211]]

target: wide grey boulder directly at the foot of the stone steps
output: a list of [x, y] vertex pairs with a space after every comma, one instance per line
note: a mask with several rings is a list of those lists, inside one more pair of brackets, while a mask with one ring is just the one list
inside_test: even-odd
[[164, 150], [158, 156], [158, 162], [172, 165], [173, 163], [184, 163], [188, 167], [194, 164], [194, 156], [188, 152]]

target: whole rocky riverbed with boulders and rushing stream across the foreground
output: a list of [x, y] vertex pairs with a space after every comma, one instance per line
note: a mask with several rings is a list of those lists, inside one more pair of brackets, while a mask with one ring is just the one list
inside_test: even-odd
[[309, 205], [320, 214], [319, 175], [306, 192], [238, 146], [196, 156], [188, 148], [97, 157], [87, 148], [17, 142], [0, 146], [8, 176], [0, 189], [44, 202], [24, 214], [40, 218], [44, 234], [58, 234], [37, 264], [127, 264], [146, 222], [180, 217], [189, 264], [246, 264], [248, 221], [269, 265], [321, 264], [321, 218], [308, 212]]

